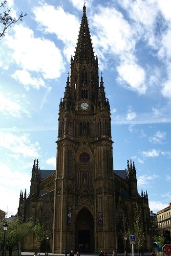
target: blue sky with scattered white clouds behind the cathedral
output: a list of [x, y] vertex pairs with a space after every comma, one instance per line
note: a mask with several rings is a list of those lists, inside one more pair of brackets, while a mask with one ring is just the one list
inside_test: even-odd
[[[28, 15], [0, 40], [0, 209], [15, 214], [34, 159], [55, 169], [58, 109], [84, 0], [8, 0]], [[87, 0], [111, 109], [115, 170], [135, 162], [150, 210], [171, 202], [171, 0]]]

